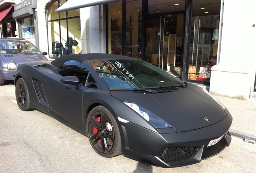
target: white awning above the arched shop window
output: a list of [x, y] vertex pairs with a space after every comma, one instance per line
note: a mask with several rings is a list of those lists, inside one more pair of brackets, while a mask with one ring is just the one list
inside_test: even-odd
[[60, 8], [55, 10], [56, 12], [63, 12], [67, 10], [74, 10], [78, 8], [84, 8], [89, 6], [95, 6], [100, 4], [107, 4], [109, 2], [115, 2], [120, 0], [68, 0]]

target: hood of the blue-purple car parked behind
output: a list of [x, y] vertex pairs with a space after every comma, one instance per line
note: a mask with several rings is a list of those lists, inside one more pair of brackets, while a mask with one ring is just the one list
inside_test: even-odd
[[45, 56], [42, 54], [0, 54], [0, 57], [2, 58], [4, 64], [13, 62], [16, 64], [16, 67], [18, 64], [23, 62], [47, 60], [47, 58], [45, 58]]

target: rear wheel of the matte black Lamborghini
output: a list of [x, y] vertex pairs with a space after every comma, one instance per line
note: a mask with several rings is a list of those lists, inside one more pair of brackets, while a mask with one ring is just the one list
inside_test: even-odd
[[23, 78], [19, 78], [15, 84], [15, 95], [19, 109], [22, 111], [31, 111], [29, 92]]

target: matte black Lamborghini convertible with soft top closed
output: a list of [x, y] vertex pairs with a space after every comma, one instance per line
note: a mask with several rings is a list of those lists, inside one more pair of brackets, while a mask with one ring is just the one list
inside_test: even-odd
[[17, 105], [87, 136], [103, 157], [159, 167], [200, 162], [231, 143], [229, 111], [207, 91], [152, 64], [114, 54], [73, 54], [18, 65]]

